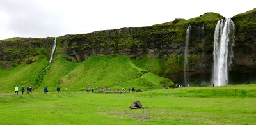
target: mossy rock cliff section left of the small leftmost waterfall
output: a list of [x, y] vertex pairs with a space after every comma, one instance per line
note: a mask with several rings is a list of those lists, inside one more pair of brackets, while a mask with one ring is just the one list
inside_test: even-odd
[[11, 38], [0, 40], [0, 62], [3, 68], [29, 64], [49, 55], [53, 38]]

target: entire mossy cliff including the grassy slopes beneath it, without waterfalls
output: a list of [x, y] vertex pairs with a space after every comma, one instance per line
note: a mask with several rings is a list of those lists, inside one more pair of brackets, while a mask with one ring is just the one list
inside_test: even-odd
[[[236, 24], [234, 71], [256, 71], [255, 13], [253, 9], [232, 18]], [[44, 69], [49, 64], [47, 60], [54, 38], [0, 40], [0, 85], [84, 87], [87, 84], [117, 87], [130, 84], [135, 87], [134, 82], [140, 82], [142, 84], [138, 87], [147, 86], [145, 89], [171, 86], [173, 83], [167, 78], [183, 74], [184, 39], [188, 24], [192, 25], [188, 71], [202, 76], [202, 73], [211, 72], [214, 28], [216, 22], [223, 18], [218, 13], [205, 13], [189, 20], [175, 19], [147, 27], [60, 36], [57, 38], [54, 62], [48, 70]], [[150, 73], [143, 74], [143, 71]], [[7, 77], [10, 79], [5, 80]], [[201, 77], [200, 80], [209, 81], [209, 77]], [[175, 79], [182, 82], [182, 78]]]

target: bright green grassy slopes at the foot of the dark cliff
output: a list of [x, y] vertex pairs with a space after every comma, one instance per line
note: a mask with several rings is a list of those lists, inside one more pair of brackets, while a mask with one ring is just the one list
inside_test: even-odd
[[[49, 66], [49, 70], [41, 77], [42, 83], [36, 83], [36, 78], [47, 66], [46, 58], [31, 64], [24, 64], [13, 67], [10, 70], [0, 70], [3, 74], [0, 77], [1, 88], [12, 90], [15, 85], [33, 85], [39, 88], [56, 86], [65, 87], [72, 90], [81, 90], [86, 86], [90, 87], [111, 87], [125, 89], [136, 87], [143, 90], [156, 89], [173, 85], [167, 78], [159, 77], [154, 73], [147, 72], [145, 69], [136, 66], [124, 55], [117, 57], [95, 56], [86, 59], [81, 63], [70, 62], [61, 56]], [[147, 64], [147, 63], [146, 63]], [[141, 67], [147, 67], [140, 64]], [[44, 72], [44, 71], [43, 71]]]

